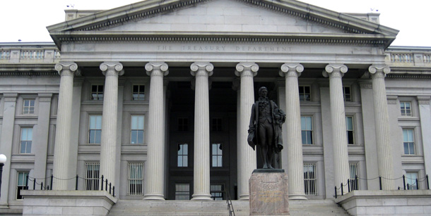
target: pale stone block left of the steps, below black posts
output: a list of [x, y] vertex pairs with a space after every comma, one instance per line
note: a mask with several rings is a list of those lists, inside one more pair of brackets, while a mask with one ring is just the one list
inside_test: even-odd
[[117, 198], [107, 191], [21, 191], [23, 216], [107, 215]]

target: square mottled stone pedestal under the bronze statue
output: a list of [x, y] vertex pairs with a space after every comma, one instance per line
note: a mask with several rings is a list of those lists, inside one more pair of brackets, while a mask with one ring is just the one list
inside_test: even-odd
[[290, 215], [288, 174], [284, 170], [254, 170], [249, 188], [250, 215]]

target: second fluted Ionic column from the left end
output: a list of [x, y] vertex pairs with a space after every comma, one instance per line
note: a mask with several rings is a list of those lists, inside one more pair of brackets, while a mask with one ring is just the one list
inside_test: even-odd
[[[105, 75], [103, 91], [102, 134], [100, 140], [100, 174], [113, 184], [117, 163], [118, 76], [124, 73], [119, 62], [100, 64]], [[115, 185], [114, 185], [115, 186]]]

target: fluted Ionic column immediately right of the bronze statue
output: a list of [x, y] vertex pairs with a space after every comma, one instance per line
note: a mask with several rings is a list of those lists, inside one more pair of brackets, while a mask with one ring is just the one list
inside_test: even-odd
[[304, 71], [301, 64], [281, 65], [280, 75], [285, 77], [286, 94], [286, 131], [288, 139], [288, 181], [290, 199], [305, 198], [304, 162], [302, 159], [301, 111], [298, 77]]

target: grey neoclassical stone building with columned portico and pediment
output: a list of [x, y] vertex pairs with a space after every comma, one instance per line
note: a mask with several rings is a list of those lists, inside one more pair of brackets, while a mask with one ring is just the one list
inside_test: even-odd
[[355, 176], [360, 190], [427, 186], [431, 49], [390, 46], [378, 14], [149, 0], [47, 29], [54, 44], [0, 43], [3, 208], [22, 208], [27, 176], [85, 191], [103, 175], [124, 200], [248, 200], [259, 87], [287, 115], [275, 163], [291, 199], [333, 198]]

